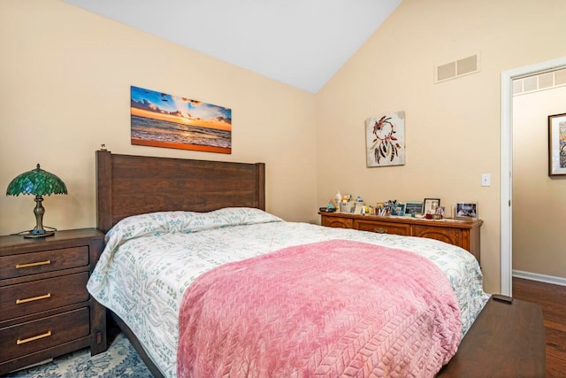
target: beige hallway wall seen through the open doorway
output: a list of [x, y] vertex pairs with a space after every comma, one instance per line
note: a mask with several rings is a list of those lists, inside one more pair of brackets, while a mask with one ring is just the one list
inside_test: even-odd
[[566, 278], [566, 177], [548, 176], [547, 116], [566, 112], [566, 87], [513, 99], [513, 269]]

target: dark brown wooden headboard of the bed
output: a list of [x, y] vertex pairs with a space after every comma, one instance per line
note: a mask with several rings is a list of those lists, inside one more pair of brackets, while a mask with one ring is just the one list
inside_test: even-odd
[[152, 158], [96, 151], [96, 227], [145, 212], [265, 210], [265, 164]]

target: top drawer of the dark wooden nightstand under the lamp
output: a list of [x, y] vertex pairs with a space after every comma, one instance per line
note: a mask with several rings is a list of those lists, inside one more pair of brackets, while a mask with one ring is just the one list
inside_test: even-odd
[[88, 246], [1, 257], [0, 280], [75, 266], [88, 266]]

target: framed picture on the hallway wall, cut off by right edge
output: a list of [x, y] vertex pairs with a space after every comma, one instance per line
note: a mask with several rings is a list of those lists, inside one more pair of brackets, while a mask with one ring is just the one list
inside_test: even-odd
[[566, 174], [566, 113], [548, 116], [548, 175]]

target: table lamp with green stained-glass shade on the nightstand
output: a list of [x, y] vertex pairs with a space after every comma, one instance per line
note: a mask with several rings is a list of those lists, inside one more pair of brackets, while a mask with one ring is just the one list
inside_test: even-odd
[[52, 194], [67, 194], [65, 182], [55, 174], [44, 171], [39, 164], [35, 169], [20, 174], [13, 179], [6, 189], [6, 196], [19, 196], [20, 194], [33, 194], [35, 196], [35, 228], [24, 235], [24, 237], [44, 237], [55, 235], [55, 230], [47, 231], [43, 228], [42, 206], [43, 197]]

